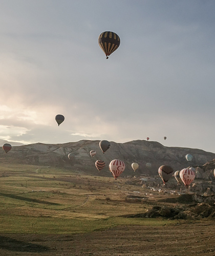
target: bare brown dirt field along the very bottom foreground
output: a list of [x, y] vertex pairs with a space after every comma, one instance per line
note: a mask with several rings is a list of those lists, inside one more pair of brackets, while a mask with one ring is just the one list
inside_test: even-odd
[[85, 234], [0, 234], [0, 255], [215, 255], [215, 223], [118, 226]]

